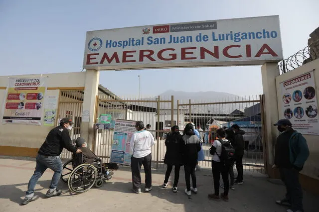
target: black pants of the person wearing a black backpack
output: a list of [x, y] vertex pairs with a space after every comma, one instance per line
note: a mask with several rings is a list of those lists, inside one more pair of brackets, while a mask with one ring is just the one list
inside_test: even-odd
[[215, 195], [219, 195], [219, 180], [220, 175], [224, 182], [224, 195], [228, 196], [229, 191], [229, 166], [224, 166], [221, 162], [212, 161], [211, 162], [211, 169], [213, 172], [213, 178], [214, 178], [214, 189], [215, 189]]

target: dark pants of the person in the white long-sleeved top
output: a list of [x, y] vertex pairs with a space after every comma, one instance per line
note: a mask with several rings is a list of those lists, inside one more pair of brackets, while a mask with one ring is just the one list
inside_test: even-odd
[[131, 157], [131, 171], [133, 189], [141, 188], [141, 167], [143, 164], [145, 172], [145, 187], [152, 186], [152, 172], [151, 172], [152, 153], [142, 158]]

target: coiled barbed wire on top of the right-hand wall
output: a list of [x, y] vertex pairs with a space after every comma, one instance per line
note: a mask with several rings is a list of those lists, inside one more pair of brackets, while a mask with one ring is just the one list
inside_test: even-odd
[[309, 46], [298, 51], [296, 54], [290, 56], [289, 58], [280, 61], [278, 63], [279, 74], [284, 74], [286, 72], [292, 71], [318, 58], [319, 40], [317, 40], [317, 42], [311, 43]]

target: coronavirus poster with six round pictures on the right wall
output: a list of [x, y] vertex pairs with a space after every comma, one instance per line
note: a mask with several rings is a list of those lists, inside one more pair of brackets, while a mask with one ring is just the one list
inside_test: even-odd
[[281, 83], [282, 118], [300, 133], [319, 135], [318, 102], [314, 71]]

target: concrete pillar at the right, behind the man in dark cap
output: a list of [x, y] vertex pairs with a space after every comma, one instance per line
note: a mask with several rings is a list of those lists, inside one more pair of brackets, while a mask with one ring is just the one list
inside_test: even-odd
[[277, 90], [276, 90], [276, 77], [279, 76], [278, 63], [265, 63], [261, 67], [263, 92], [265, 95], [264, 113], [265, 113], [265, 129], [267, 149], [266, 163], [268, 174], [271, 177], [270, 167], [274, 163], [274, 147], [276, 138], [278, 136], [277, 127], [273, 124], [278, 121], [278, 104], [277, 104]]

